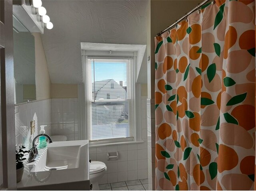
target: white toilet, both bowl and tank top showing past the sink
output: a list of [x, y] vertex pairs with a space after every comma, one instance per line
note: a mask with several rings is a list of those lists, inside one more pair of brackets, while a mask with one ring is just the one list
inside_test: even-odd
[[[64, 135], [51, 136], [53, 142], [66, 141], [67, 137]], [[90, 183], [92, 183], [92, 190], [100, 190], [99, 180], [106, 173], [106, 164], [100, 161], [91, 161], [89, 163], [90, 168]]]

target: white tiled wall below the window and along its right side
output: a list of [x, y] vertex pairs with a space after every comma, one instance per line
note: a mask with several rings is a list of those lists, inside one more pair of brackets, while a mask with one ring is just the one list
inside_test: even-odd
[[[148, 176], [147, 161], [147, 117], [146, 96], [141, 97], [140, 132], [143, 143], [99, 146], [89, 148], [90, 159], [102, 161], [107, 165], [107, 174], [100, 180], [100, 184], [114, 183], [128, 180], [146, 179]], [[144, 112], [144, 113], [143, 113]], [[108, 160], [107, 152], [118, 152], [118, 160]]]

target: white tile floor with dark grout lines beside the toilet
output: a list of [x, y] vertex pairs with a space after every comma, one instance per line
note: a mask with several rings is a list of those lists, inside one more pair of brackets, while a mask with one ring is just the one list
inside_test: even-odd
[[100, 184], [100, 190], [148, 190], [148, 179]]

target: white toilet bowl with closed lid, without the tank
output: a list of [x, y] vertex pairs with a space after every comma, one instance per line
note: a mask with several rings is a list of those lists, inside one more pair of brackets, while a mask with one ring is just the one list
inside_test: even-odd
[[99, 181], [106, 173], [106, 164], [100, 161], [91, 161], [90, 168], [90, 183], [92, 183], [92, 190], [100, 190]]

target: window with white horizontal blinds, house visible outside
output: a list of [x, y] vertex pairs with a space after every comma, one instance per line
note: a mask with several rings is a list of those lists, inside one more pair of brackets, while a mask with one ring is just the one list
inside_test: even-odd
[[132, 140], [132, 58], [87, 57], [86, 77], [89, 140]]

